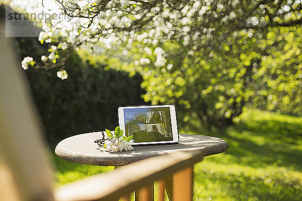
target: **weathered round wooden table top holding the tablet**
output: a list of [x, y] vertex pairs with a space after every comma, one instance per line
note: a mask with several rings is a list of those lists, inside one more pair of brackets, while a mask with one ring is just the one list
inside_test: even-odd
[[209, 156], [222, 153], [229, 148], [228, 143], [219, 138], [180, 134], [178, 144], [135, 146], [131, 151], [112, 153], [94, 142], [100, 138], [102, 138], [101, 132], [75, 135], [59, 142], [55, 153], [60, 158], [71, 162], [118, 166], [177, 151], [199, 151], [204, 156]]

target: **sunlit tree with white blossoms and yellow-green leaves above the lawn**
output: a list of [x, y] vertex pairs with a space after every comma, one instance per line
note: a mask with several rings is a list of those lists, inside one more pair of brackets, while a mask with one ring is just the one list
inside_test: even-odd
[[302, 115], [300, 2], [113, 2], [61, 5], [98, 22], [80, 31], [80, 44], [116, 37], [110, 67], [139, 72], [146, 102], [173, 103], [181, 122], [197, 118], [208, 129], [239, 121], [247, 104]]

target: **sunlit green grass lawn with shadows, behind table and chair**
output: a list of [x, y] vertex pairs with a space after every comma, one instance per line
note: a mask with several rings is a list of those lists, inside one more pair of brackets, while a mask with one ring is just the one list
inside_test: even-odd
[[[222, 138], [230, 148], [194, 166], [194, 200], [302, 200], [301, 117], [247, 110], [239, 124], [203, 135]], [[54, 158], [56, 186], [113, 170]]]

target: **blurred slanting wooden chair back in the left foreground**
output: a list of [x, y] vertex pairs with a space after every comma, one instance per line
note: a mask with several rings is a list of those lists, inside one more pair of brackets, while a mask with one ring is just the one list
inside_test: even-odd
[[51, 200], [48, 153], [12, 43], [0, 33], [0, 200]]

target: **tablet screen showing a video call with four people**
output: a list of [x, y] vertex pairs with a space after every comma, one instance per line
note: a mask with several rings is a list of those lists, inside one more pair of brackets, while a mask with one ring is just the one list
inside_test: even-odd
[[124, 109], [124, 120], [135, 143], [173, 140], [169, 107]]

